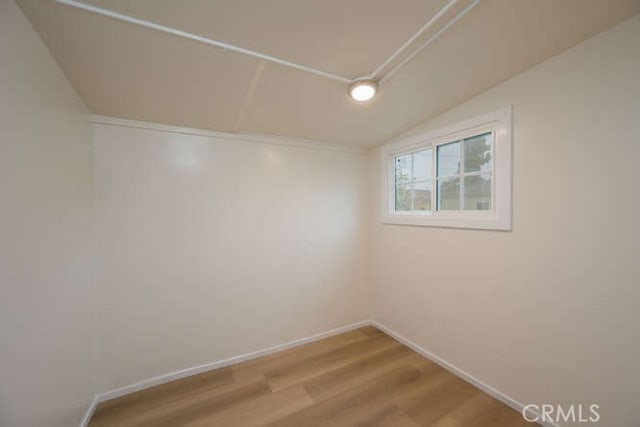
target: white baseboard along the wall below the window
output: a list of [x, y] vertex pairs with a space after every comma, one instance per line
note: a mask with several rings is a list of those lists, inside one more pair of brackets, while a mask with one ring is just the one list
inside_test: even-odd
[[[473, 375], [469, 374], [468, 372], [465, 372], [464, 370], [458, 368], [457, 366], [452, 365], [451, 363], [449, 363], [446, 360], [442, 359], [441, 357], [431, 353], [430, 351], [425, 350], [424, 348], [420, 347], [418, 344], [416, 344], [413, 341], [403, 337], [399, 333], [387, 328], [386, 326], [384, 326], [383, 324], [381, 324], [380, 322], [378, 322], [376, 320], [372, 320], [371, 321], [371, 326], [374, 326], [374, 327], [380, 329], [382, 332], [386, 333], [387, 335], [392, 336], [393, 338], [395, 338], [396, 340], [400, 341], [402, 344], [406, 345], [407, 347], [409, 347], [410, 349], [412, 349], [416, 353], [426, 357], [427, 359], [431, 360], [434, 363], [437, 363], [438, 365], [440, 365], [441, 367], [443, 367], [447, 371], [451, 372], [455, 376], [457, 376], [459, 378], [462, 378], [466, 382], [474, 385], [476, 388], [478, 388], [478, 389], [482, 390], [483, 392], [487, 393], [489, 396], [492, 396], [492, 397], [498, 399], [499, 401], [501, 401], [505, 405], [513, 408], [514, 410], [518, 411], [519, 413], [522, 413], [522, 409], [524, 409], [525, 405], [520, 403], [520, 402], [518, 402], [517, 400], [507, 396], [505, 393], [501, 392], [500, 390], [498, 390], [498, 389], [490, 386], [489, 384], [479, 380], [478, 378], [474, 377]], [[540, 414], [536, 413], [535, 411], [529, 410], [528, 413], [530, 413], [531, 415], [534, 415], [534, 416], [538, 416], [540, 418]], [[552, 421], [542, 422], [542, 425], [544, 427], [561, 427], [559, 424], [556, 424], [556, 423], [554, 423]]]

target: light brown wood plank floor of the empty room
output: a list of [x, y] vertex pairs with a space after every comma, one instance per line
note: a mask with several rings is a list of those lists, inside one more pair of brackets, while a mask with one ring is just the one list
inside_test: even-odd
[[101, 403], [91, 427], [531, 427], [373, 327]]

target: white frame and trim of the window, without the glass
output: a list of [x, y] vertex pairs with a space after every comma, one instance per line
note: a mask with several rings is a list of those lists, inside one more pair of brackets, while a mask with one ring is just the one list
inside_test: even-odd
[[[437, 147], [491, 132], [491, 210], [438, 211], [436, 187]], [[385, 144], [381, 150], [382, 223], [430, 227], [511, 230], [511, 107], [483, 114], [434, 131], [412, 135]], [[395, 210], [395, 158], [431, 148], [431, 211]]]

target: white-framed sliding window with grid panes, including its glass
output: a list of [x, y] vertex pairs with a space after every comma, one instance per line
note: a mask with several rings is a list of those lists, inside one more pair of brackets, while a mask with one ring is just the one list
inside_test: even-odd
[[384, 223], [511, 229], [511, 110], [382, 149]]

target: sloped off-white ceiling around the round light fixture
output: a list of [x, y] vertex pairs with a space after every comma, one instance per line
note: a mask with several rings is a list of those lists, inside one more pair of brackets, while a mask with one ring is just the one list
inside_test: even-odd
[[[244, 134], [375, 145], [640, 13], [640, 0], [481, 0], [386, 79], [347, 84], [79, 10], [17, 0], [89, 109]], [[446, 0], [84, 0], [348, 78], [366, 75]], [[412, 48], [471, 3], [459, 0]]]

